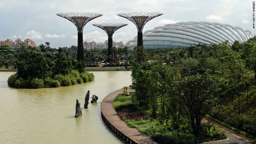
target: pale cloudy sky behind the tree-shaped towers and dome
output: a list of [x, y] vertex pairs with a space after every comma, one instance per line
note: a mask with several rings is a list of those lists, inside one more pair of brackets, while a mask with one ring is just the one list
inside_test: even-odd
[[69, 20], [57, 16], [65, 12], [103, 14], [84, 26], [84, 41], [103, 43], [105, 31], [94, 23], [127, 23], [113, 34], [113, 41], [126, 43], [137, 35], [131, 21], [117, 16], [122, 12], [160, 12], [145, 24], [143, 32], [169, 23], [188, 21], [218, 22], [253, 29], [253, 1], [256, 0], [0, 0], [0, 40], [30, 38], [37, 45], [77, 46], [77, 29]]

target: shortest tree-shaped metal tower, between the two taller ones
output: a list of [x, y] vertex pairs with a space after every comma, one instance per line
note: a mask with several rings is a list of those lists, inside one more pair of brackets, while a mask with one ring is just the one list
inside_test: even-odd
[[108, 34], [108, 58], [107, 61], [109, 62], [110, 55], [111, 55], [111, 48], [113, 46], [113, 34], [116, 32], [117, 29], [126, 26], [127, 24], [124, 23], [95, 23], [93, 26], [97, 26], [103, 29]]

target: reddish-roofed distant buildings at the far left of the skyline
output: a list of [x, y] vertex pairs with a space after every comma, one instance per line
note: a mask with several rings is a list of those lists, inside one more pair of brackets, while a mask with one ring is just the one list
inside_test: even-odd
[[0, 41], [0, 45], [2, 44], [9, 44], [10, 46], [14, 47], [14, 48], [19, 48], [22, 44], [24, 44], [25, 46], [32, 46], [35, 47], [36, 44], [33, 40], [30, 40], [29, 38], [27, 38], [26, 40], [22, 41], [20, 38], [18, 38], [17, 40], [12, 41], [10, 39], [7, 39], [5, 41]]

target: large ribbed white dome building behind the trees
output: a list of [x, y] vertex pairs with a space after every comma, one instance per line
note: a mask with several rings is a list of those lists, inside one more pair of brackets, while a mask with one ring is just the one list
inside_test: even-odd
[[[187, 22], [166, 24], [143, 33], [143, 46], [146, 49], [176, 49], [197, 44], [218, 44], [235, 40], [245, 42], [252, 38], [250, 31], [239, 26], [209, 22]], [[137, 46], [137, 36], [125, 46]]]

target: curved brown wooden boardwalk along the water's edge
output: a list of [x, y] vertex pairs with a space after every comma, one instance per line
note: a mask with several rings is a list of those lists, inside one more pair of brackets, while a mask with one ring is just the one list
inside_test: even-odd
[[[123, 139], [130, 142], [130, 144], [157, 144], [150, 137], [144, 133], [139, 132], [135, 128], [128, 127], [124, 121], [117, 115], [116, 110], [113, 108], [113, 101], [117, 95], [122, 92], [123, 89], [118, 89], [115, 92], [107, 95], [101, 103], [102, 117], [110, 126], [110, 128], [120, 135]], [[131, 92], [131, 89], [129, 89]]]

